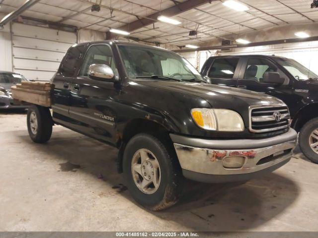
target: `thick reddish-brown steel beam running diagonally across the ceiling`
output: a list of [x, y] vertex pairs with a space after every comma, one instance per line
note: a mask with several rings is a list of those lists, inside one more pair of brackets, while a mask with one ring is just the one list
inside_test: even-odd
[[132, 32], [132, 31], [138, 30], [142, 27], [145, 27], [145, 26], [148, 26], [148, 25], [151, 25], [151, 24], [157, 22], [158, 21], [157, 18], [160, 15], [171, 17], [171, 16], [174, 16], [174, 15], [180, 14], [182, 12], [191, 10], [195, 7], [198, 7], [200, 5], [203, 5], [203, 4], [211, 2], [211, 1], [216, 1], [216, 0], [187, 0], [187, 1], [181, 2], [179, 4], [176, 4], [174, 6], [171, 6], [169, 8], [158, 11], [154, 14], [151, 14], [151, 15], [147, 16], [147, 18], [141, 18], [141, 19], [138, 19], [136, 21], [130, 22], [130, 23], [120, 27], [119, 29], [123, 30], [123, 31]]

